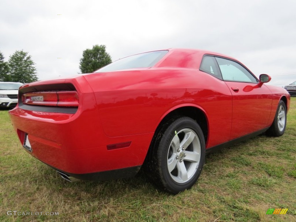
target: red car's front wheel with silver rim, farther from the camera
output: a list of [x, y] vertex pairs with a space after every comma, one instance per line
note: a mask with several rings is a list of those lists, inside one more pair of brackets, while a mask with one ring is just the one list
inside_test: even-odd
[[266, 131], [269, 136], [282, 136], [286, 129], [287, 123], [287, 108], [283, 100], [279, 101], [278, 108], [276, 110], [276, 115], [274, 121], [270, 128]]

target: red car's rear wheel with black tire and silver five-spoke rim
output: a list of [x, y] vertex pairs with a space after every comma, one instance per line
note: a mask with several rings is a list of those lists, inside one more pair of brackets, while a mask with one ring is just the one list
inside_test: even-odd
[[168, 121], [151, 143], [146, 169], [152, 182], [177, 194], [191, 188], [205, 162], [205, 139], [189, 117]]

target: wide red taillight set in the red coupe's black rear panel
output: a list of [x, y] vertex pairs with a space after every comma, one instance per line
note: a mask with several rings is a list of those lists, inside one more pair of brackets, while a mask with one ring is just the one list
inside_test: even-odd
[[22, 95], [22, 103], [39, 106], [78, 107], [76, 91], [32, 92]]

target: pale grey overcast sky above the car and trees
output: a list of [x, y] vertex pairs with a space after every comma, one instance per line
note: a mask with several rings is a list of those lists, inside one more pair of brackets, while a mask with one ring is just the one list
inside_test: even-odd
[[95, 44], [106, 45], [112, 61], [206, 49], [282, 86], [296, 81], [296, 1], [0, 0], [0, 51], [6, 61], [28, 52], [41, 80], [76, 75], [83, 50]]

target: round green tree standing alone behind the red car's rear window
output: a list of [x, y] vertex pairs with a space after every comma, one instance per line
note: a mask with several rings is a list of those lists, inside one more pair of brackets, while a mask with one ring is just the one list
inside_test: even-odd
[[83, 51], [79, 68], [81, 73], [92, 73], [111, 62], [110, 54], [106, 52], [106, 46], [95, 45], [92, 49], [86, 49]]

